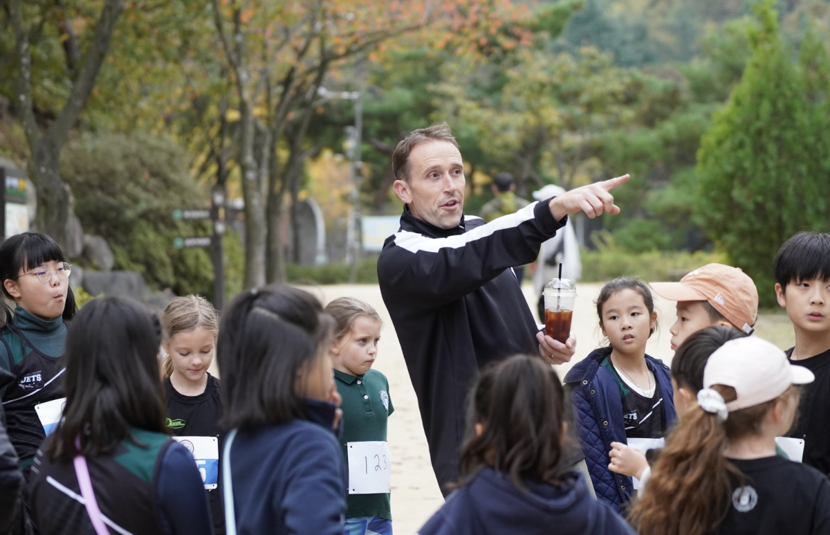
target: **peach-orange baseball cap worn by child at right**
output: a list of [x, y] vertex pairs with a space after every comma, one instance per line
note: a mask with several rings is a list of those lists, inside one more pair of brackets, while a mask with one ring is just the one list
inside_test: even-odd
[[706, 264], [680, 282], [652, 282], [658, 296], [671, 301], [706, 301], [747, 334], [758, 319], [758, 289], [740, 267]]

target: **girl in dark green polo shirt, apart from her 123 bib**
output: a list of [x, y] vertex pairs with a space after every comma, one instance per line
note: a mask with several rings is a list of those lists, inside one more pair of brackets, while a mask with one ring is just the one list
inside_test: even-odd
[[[395, 410], [386, 375], [372, 368], [383, 323], [374, 307], [354, 297], [334, 299], [325, 312], [334, 318], [330, 353], [345, 421], [340, 445], [346, 469], [358, 470], [349, 467], [349, 443], [386, 442], [387, 419]], [[392, 535], [389, 493], [349, 494], [345, 528], [346, 535]]]

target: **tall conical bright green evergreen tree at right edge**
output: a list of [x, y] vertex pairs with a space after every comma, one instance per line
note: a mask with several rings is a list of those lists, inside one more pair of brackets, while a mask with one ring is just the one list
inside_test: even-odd
[[798, 61], [773, 2], [754, 7], [753, 56], [701, 140], [701, 227], [774, 303], [772, 261], [804, 228], [828, 228], [828, 51], [811, 33]]

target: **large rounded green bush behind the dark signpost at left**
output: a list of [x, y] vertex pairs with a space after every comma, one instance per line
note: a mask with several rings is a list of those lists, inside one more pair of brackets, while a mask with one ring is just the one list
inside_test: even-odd
[[207, 204], [187, 164], [187, 154], [166, 137], [87, 134], [66, 145], [61, 175], [76, 194], [84, 228], [110, 243], [115, 268], [142, 273], [150, 287], [209, 297], [207, 252], [173, 247], [175, 238], [207, 230], [205, 223], [173, 221], [174, 209]]

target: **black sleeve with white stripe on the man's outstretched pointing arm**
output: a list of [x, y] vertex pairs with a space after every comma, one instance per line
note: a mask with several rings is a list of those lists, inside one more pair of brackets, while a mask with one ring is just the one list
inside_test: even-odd
[[382, 285], [421, 308], [456, 301], [505, 269], [535, 261], [544, 241], [567, 222], [557, 222], [549, 201], [447, 238], [400, 232], [378, 259]]

